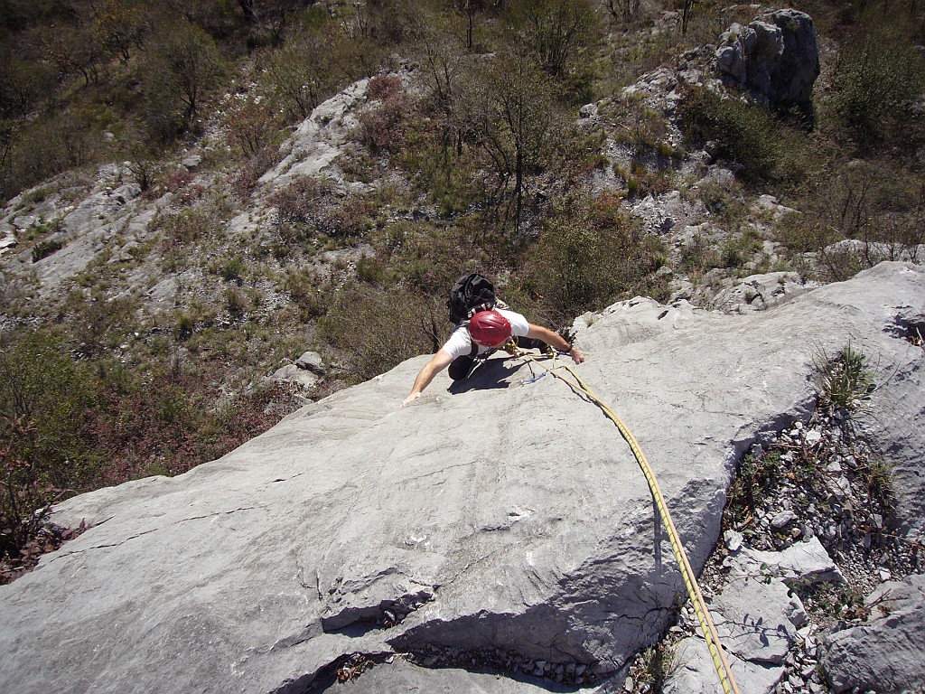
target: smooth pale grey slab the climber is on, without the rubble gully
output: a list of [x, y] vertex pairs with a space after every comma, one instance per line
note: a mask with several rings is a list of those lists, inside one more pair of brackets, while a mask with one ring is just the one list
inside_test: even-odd
[[[916, 321], [925, 268], [892, 263], [756, 314], [636, 299], [575, 325], [582, 377], [633, 429], [698, 569], [739, 456], [808, 416], [820, 349], [878, 355], [876, 397], [902, 374], [925, 411], [922, 349], [896, 328]], [[186, 475], [62, 504], [59, 523], [92, 527], [0, 588], [6, 690], [323, 690], [357, 653], [381, 663], [358, 692], [462, 690], [415, 668], [474, 661], [527, 663], [547, 688], [622, 685], [683, 591], [631, 452], [559, 379], [501, 355], [400, 409], [426, 358]], [[922, 428], [906, 433], [921, 445]], [[897, 485], [909, 497], [925, 496], [920, 465]], [[388, 663], [396, 651], [418, 664]]]

